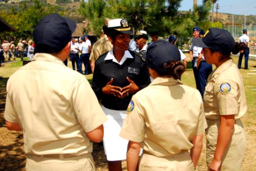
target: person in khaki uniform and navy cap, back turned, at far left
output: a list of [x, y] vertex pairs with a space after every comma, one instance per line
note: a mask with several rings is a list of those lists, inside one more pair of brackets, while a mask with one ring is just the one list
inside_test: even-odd
[[95, 170], [90, 140], [102, 140], [107, 117], [85, 77], [63, 63], [75, 27], [56, 13], [41, 19], [38, 53], [7, 82], [6, 127], [23, 131], [27, 171]]

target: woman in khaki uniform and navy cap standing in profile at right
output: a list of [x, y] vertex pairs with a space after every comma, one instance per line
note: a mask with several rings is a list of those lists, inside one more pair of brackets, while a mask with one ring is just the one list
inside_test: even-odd
[[209, 170], [241, 170], [246, 134], [241, 117], [247, 111], [242, 76], [230, 52], [242, 50], [233, 36], [220, 28], [209, 28], [193, 44], [203, 47], [206, 62], [216, 69], [209, 75], [203, 106], [206, 129], [206, 162]]

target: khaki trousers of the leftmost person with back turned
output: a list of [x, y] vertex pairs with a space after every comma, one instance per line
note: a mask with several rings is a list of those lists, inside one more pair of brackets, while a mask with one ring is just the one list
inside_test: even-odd
[[81, 156], [75, 156], [70, 158], [47, 158], [36, 156], [33, 154], [27, 154], [26, 170], [34, 171], [54, 171], [54, 170], [66, 170], [66, 171], [91, 171], [95, 170], [93, 157], [91, 154], [83, 154]]

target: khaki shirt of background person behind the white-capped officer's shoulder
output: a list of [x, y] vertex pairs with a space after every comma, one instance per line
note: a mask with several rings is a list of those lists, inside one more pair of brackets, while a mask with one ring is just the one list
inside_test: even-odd
[[97, 42], [93, 44], [93, 50], [91, 50], [89, 60], [97, 60], [99, 56], [110, 51], [112, 47], [113, 45], [109, 41], [109, 38], [107, 38], [107, 35], [104, 35], [103, 38], [97, 40]]

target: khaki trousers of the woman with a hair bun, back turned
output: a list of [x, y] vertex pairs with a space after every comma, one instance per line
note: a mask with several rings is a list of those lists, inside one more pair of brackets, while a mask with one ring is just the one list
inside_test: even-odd
[[181, 152], [179, 154], [168, 157], [156, 157], [151, 154], [143, 153], [139, 162], [139, 171], [178, 171], [178, 170], [194, 170], [189, 152]]

